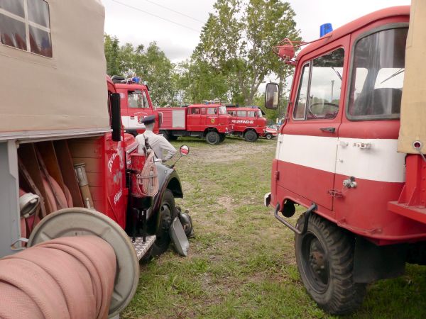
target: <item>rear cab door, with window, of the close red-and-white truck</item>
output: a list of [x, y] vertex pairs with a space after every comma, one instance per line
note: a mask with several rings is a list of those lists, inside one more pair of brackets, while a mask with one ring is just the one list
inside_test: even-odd
[[[334, 181], [344, 196], [335, 201], [334, 211], [338, 220], [359, 229], [392, 227], [381, 218], [405, 181], [405, 154], [397, 145], [407, 34], [405, 19], [376, 32], [364, 28], [351, 38], [354, 57]], [[351, 178], [356, 187], [344, 187]]]

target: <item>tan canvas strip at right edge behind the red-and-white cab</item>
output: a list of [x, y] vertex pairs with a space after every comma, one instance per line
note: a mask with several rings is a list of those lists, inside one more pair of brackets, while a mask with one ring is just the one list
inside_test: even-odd
[[419, 140], [426, 153], [426, 1], [413, 0], [405, 51], [405, 77], [401, 104], [398, 152], [418, 154]]

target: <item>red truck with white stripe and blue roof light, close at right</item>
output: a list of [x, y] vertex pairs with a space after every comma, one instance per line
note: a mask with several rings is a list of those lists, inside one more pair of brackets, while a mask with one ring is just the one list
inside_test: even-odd
[[[303, 284], [329, 313], [355, 310], [367, 283], [405, 262], [426, 263], [424, 1], [411, 10], [411, 21], [409, 6], [363, 16], [295, 59], [300, 43], [274, 48], [295, 72], [265, 201], [295, 233]], [[277, 84], [266, 106], [278, 106]], [[293, 225], [295, 205], [308, 209]]]

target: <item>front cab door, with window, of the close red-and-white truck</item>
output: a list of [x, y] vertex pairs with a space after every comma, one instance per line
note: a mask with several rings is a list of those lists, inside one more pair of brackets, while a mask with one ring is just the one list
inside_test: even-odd
[[[332, 210], [349, 35], [300, 58], [278, 140], [278, 192]], [[305, 198], [305, 200], [303, 200]]]

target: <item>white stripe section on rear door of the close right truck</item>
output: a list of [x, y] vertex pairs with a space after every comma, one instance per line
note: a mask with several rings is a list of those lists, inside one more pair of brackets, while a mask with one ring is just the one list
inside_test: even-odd
[[[360, 143], [368, 148], [359, 147]], [[398, 140], [339, 138], [337, 174], [373, 181], [405, 181], [405, 154], [397, 152]]]

